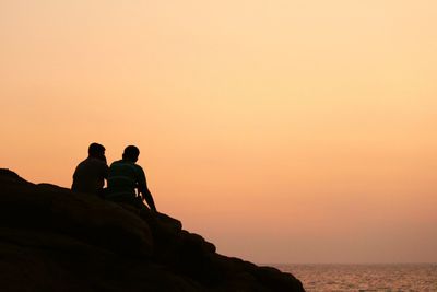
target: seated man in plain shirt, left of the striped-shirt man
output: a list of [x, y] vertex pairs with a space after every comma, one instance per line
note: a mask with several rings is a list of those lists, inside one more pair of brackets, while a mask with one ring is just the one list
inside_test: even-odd
[[105, 148], [92, 143], [88, 147], [88, 157], [75, 167], [71, 189], [75, 192], [102, 195], [105, 178], [108, 178]]

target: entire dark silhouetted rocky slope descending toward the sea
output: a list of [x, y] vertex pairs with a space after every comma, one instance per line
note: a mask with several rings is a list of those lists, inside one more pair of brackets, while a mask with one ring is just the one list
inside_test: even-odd
[[304, 291], [166, 214], [0, 170], [1, 291]]

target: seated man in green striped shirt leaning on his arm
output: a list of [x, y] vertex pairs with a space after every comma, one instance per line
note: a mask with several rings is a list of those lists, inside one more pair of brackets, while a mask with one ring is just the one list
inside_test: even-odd
[[127, 202], [140, 208], [144, 207], [143, 199], [145, 199], [149, 207], [156, 212], [144, 171], [135, 164], [139, 155], [140, 150], [137, 147], [128, 145], [122, 154], [122, 160], [110, 165], [106, 199], [115, 202]]

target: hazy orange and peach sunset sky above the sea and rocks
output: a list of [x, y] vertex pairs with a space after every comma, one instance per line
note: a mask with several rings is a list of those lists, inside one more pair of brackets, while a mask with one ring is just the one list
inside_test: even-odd
[[437, 262], [434, 0], [0, 0], [0, 167], [128, 144], [160, 211], [259, 264]]

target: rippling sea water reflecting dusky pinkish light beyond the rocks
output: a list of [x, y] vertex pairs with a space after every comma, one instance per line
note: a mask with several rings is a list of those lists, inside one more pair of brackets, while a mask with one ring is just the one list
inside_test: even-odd
[[437, 292], [437, 264], [273, 265], [308, 292]]

